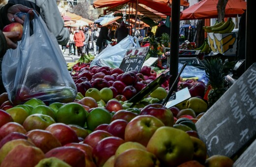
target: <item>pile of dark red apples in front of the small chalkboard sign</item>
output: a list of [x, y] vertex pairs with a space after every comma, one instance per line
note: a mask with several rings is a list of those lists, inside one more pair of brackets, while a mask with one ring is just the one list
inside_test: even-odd
[[[113, 91], [113, 97], [116, 99], [129, 100], [142, 88], [154, 81], [157, 73], [149, 66], [143, 66], [141, 70], [129, 71], [124, 73], [120, 68], [110, 68], [107, 66], [85, 65], [79, 68], [79, 71], [71, 73], [77, 86], [77, 91], [85, 95], [89, 88], [101, 90], [104, 87], [110, 87]], [[168, 81], [162, 84], [166, 89]]]

